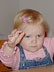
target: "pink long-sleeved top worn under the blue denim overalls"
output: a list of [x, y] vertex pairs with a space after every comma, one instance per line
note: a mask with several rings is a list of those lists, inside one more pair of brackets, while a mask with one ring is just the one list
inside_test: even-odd
[[[53, 61], [53, 54], [54, 54], [54, 38], [48, 38], [46, 37], [44, 39], [44, 44], [43, 44], [51, 57], [51, 60]], [[43, 50], [43, 48], [41, 48], [40, 50], [36, 51], [36, 52], [29, 52], [24, 50], [26, 59], [28, 60], [33, 60], [33, 59], [40, 59], [40, 58], [44, 58], [45, 52]], [[3, 52], [3, 47], [0, 49], [0, 60], [8, 67], [12, 67], [13, 70], [18, 70], [19, 68], [19, 62], [20, 62], [20, 51], [19, 48], [16, 47], [15, 50], [13, 51], [13, 53], [9, 56], [5, 56], [4, 52]]]

